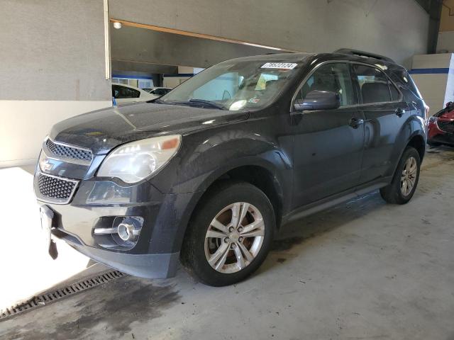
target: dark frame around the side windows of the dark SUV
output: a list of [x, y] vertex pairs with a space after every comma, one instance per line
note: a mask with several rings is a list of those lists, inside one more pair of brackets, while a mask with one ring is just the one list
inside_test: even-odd
[[[319, 64], [316, 64], [316, 66], [311, 69], [311, 71], [306, 74], [306, 76], [303, 78], [303, 80], [299, 83], [298, 87], [297, 87], [297, 90], [294, 92], [293, 96], [292, 96], [292, 101], [290, 101], [290, 113], [294, 112], [294, 102], [299, 94], [299, 91], [301, 91], [301, 88], [304, 86], [304, 84], [306, 84], [306, 81], [309, 80], [310, 77], [312, 77], [312, 75], [314, 74], [314, 72], [316, 72], [317, 69], [319, 69], [319, 67], [322, 67], [323, 65], [326, 65], [326, 64], [340, 64], [340, 63], [343, 63], [343, 64], [348, 64], [348, 69], [349, 69], [349, 72], [350, 72], [350, 77], [352, 78], [352, 85], [353, 85], [353, 92], [355, 92], [355, 95], [356, 95], [356, 101], [358, 103], [356, 104], [353, 104], [353, 105], [349, 105], [349, 106], [342, 106], [341, 108], [339, 109], [343, 109], [343, 108], [360, 108], [362, 106], [371, 106], [371, 105], [382, 105], [382, 104], [385, 104], [385, 103], [401, 103], [402, 102], [402, 99], [404, 98], [404, 95], [402, 94], [402, 91], [399, 89], [399, 86], [396, 85], [396, 83], [394, 81], [392, 81], [392, 79], [386, 74], [386, 72], [384, 72], [380, 67], [377, 67], [377, 65], [375, 64], [367, 64], [365, 62], [355, 62], [355, 61], [352, 61], [352, 60], [326, 60], [325, 62], [320, 62]], [[359, 89], [359, 83], [358, 83], [358, 77], [357, 77], [357, 74], [355, 73], [355, 70], [353, 69], [353, 65], [354, 64], [358, 64], [358, 65], [363, 65], [363, 66], [368, 66], [368, 67], [372, 67], [372, 68], [375, 68], [377, 69], [379, 72], [382, 72], [382, 74], [384, 74], [384, 76], [386, 77], [386, 79], [388, 79], [388, 81], [393, 84], [397, 91], [399, 92], [399, 99], [397, 101], [382, 101], [380, 103], [362, 103], [362, 96], [360, 96], [360, 94], [358, 93], [358, 89]], [[389, 87], [389, 85], [388, 85]], [[389, 96], [391, 97], [392, 99], [392, 96], [391, 96], [391, 90], [389, 89]], [[361, 103], [360, 103], [361, 101]]]

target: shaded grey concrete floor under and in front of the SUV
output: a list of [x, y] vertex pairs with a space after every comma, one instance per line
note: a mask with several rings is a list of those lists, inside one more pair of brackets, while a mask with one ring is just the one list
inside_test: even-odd
[[287, 225], [243, 283], [127, 276], [6, 319], [0, 338], [454, 340], [453, 221], [454, 150], [432, 149], [409, 204], [376, 192]]

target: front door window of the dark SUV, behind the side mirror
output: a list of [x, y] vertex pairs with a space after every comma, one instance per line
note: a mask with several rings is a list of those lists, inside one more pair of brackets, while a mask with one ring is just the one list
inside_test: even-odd
[[316, 69], [301, 87], [297, 100], [304, 100], [314, 90], [336, 92], [341, 97], [341, 106], [356, 104], [348, 64], [343, 62], [325, 64]]

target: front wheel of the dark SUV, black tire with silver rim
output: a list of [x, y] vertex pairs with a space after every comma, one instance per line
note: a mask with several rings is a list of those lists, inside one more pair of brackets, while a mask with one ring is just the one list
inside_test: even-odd
[[184, 237], [182, 264], [206, 285], [238, 283], [265, 260], [275, 227], [275, 212], [265, 193], [250, 183], [225, 181], [207, 191], [197, 205]]

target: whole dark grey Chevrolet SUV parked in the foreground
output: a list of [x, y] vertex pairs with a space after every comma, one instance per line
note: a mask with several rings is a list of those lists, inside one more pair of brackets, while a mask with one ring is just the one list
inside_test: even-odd
[[43, 228], [136, 276], [181, 262], [236, 283], [289, 220], [377, 189], [407, 203], [426, 111], [406, 69], [379, 55], [227, 60], [152, 102], [55, 125], [35, 174]]

